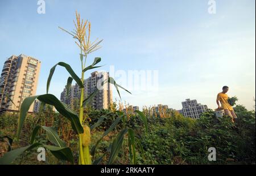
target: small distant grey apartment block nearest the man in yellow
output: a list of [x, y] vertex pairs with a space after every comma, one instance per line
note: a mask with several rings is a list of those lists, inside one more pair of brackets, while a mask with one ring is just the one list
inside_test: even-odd
[[178, 111], [184, 117], [199, 118], [201, 114], [208, 110], [207, 105], [198, 104], [196, 100], [186, 99], [181, 104], [182, 109]]

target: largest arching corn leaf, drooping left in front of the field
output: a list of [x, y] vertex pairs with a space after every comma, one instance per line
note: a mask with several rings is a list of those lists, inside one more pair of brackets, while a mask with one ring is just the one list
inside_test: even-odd
[[64, 105], [62, 102], [60, 102], [54, 95], [45, 94], [40, 96], [27, 97], [22, 102], [18, 119], [18, 130], [16, 134], [17, 138], [20, 136], [20, 132], [24, 125], [24, 119], [27, 116], [27, 111], [36, 98], [45, 104], [55, 106], [56, 110], [71, 122], [73, 130], [75, 130], [77, 133], [81, 134], [84, 132], [84, 129], [82, 128], [79, 121], [79, 117], [73, 110], [69, 109], [67, 105]]

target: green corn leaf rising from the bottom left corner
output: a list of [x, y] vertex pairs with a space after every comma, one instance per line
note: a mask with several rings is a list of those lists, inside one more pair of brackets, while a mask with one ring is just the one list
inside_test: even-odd
[[25, 151], [28, 151], [32, 148], [37, 147], [40, 145], [40, 143], [34, 143], [32, 145], [28, 145], [26, 147], [18, 148], [15, 150], [12, 150], [10, 152], [7, 152], [4, 156], [0, 158], [0, 165], [9, 165], [11, 162], [13, 162], [20, 154], [22, 154]]

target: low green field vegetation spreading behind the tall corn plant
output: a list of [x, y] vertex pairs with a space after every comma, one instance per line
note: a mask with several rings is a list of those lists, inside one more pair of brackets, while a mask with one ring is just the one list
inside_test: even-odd
[[[94, 125], [91, 128], [90, 148], [100, 140], [95, 149], [94, 158], [97, 159], [93, 164], [109, 164], [111, 144], [115, 142], [113, 139], [117, 139], [116, 136], [120, 131], [127, 132], [122, 129], [134, 129], [136, 157], [130, 156], [129, 151], [130, 149], [133, 151], [133, 147], [129, 145], [128, 131], [125, 135], [121, 134], [123, 145], [119, 146], [119, 152], [112, 155], [116, 157], [113, 164], [255, 164], [255, 112], [248, 111], [241, 105], [234, 107], [234, 110], [238, 115], [235, 123], [232, 123], [229, 117], [216, 118], [211, 110], [204, 113], [200, 119], [184, 118], [176, 111], [170, 111], [171, 115], [167, 118], [147, 117], [148, 128], [144, 128], [143, 118], [135, 113], [129, 118], [118, 121], [113, 130], [104, 135], [106, 129], [110, 128], [113, 121], [120, 116], [120, 112], [86, 108], [86, 123], [91, 127]], [[40, 119], [38, 115], [29, 115], [24, 123], [20, 141], [19, 143], [14, 141], [13, 149], [29, 144], [37, 122], [40, 126], [55, 126], [60, 139], [71, 148], [71, 151], [74, 151], [75, 162], [79, 161], [79, 152], [76, 150], [79, 145], [78, 136], [72, 130], [69, 121], [61, 116], [47, 110], [42, 113]], [[17, 119], [17, 115], [1, 115], [2, 136], [5, 134], [14, 138]], [[97, 123], [98, 121], [102, 123]], [[42, 143], [46, 142], [47, 145], [52, 144], [45, 137], [44, 129], [40, 128], [39, 135], [35, 139]], [[9, 150], [7, 141], [5, 139], [5, 142], [3, 140], [1, 142], [1, 156]], [[216, 148], [217, 161], [208, 160], [210, 147]], [[36, 149], [32, 149], [32, 152], [24, 152], [14, 164], [71, 164], [57, 160], [51, 152], [47, 152], [46, 162], [39, 162], [36, 160], [36, 154], [38, 154]]]

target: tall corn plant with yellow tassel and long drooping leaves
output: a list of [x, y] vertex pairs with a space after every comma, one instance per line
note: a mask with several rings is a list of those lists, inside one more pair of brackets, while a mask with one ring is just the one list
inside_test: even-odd
[[[42, 109], [42, 107], [46, 104], [52, 105], [61, 115], [63, 115], [64, 118], [67, 118], [70, 121], [73, 131], [75, 131], [79, 137], [78, 138], [79, 139], [78, 164], [81, 164], [81, 165], [100, 164], [100, 162], [102, 161], [102, 158], [104, 158], [108, 152], [109, 152], [108, 164], [113, 164], [115, 157], [117, 157], [118, 152], [122, 147], [123, 138], [125, 134], [128, 134], [130, 156], [132, 159], [132, 163], [135, 164], [136, 163], [135, 143], [137, 143], [137, 145], [140, 146], [141, 149], [142, 147], [139, 143], [139, 140], [135, 138], [134, 130], [131, 128], [124, 128], [123, 130], [121, 130], [116, 136], [116, 138], [113, 140], [113, 143], [109, 145], [107, 151], [100, 158], [95, 158], [96, 148], [97, 148], [97, 145], [100, 143], [100, 141], [104, 138], [104, 136], [108, 135], [110, 131], [114, 130], [115, 126], [117, 126], [117, 124], [121, 120], [124, 120], [126, 118], [126, 115], [121, 112], [119, 112], [119, 117], [115, 119], [115, 121], [108, 128], [108, 130], [104, 132], [100, 140], [98, 140], [97, 143], [93, 145], [92, 149], [89, 149], [89, 145], [91, 144], [90, 131], [93, 128], [100, 126], [101, 123], [104, 121], [105, 117], [102, 116], [101, 118], [98, 119], [98, 121], [94, 125], [90, 127], [88, 126], [88, 124], [86, 124], [86, 119], [84, 119], [85, 117], [84, 106], [88, 105], [89, 102], [91, 102], [92, 98], [98, 93], [99, 90], [96, 89], [95, 92], [93, 92], [88, 97], [84, 98], [84, 75], [85, 75], [85, 72], [88, 70], [101, 67], [101, 66], [97, 66], [97, 64], [101, 62], [100, 57], [96, 57], [92, 65], [89, 65], [87, 67], [86, 67], [86, 59], [88, 58], [88, 55], [90, 53], [101, 48], [99, 44], [102, 42], [102, 40], [95, 40], [93, 42], [90, 41], [90, 22], [88, 22], [88, 20], [84, 21], [83, 19], [80, 19], [80, 14], [77, 14], [77, 12], [76, 12], [76, 22], [74, 20], [74, 24], [75, 24], [75, 31], [73, 32], [68, 32], [67, 30], [61, 27], [59, 28], [67, 32], [73, 38], [75, 38], [75, 43], [77, 46], [79, 46], [79, 50], [80, 50], [79, 59], [81, 62], [81, 78], [77, 76], [75, 71], [73, 71], [72, 67], [67, 63], [59, 62], [55, 66], [53, 66], [49, 72], [46, 94], [27, 97], [22, 102], [20, 113], [19, 113], [19, 119], [18, 119], [18, 129], [16, 131], [16, 139], [19, 140], [20, 134], [22, 132], [22, 127], [24, 125], [24, 121], [27, 116], [28, 109], [30, 109], [31, 104], [36, 99], [38, 99], [39, 101], [42, 102], [40, 109]], [[71, 87], [73, 80], [76, 81], [76, 83], [79, 85], [81, 89], [79, 115], [77, 115], [77, 113], [72, 109], [68, 108], [67, 105], [63, 104], [54, 95], [51, 95], [48, 93], [49, 87], [51, 84], [51, 79], [57, 66], [64, 67], [70, 74], [70, 77], [67, 80], [68, 91]], [[105, 80], [102, 84], [105, 84], [105, 83], [113, 84], [115, 89], [118, 92], [119, 97], [120, 97], [119, 88], [124, 89], [126, 92], [129, 92], [125, 88], [121, 87], [121, 85], [118, 85], [113, 78], [109, 78], [108, 80]], [[144, 117], [141, 111], [137, 111], [137, 113], [140, 115], [140, 117], [142, 117], [145, 127], [147, 128], [146, 117]], [[39, 130], [46, 132], [47, 140], [53, 145], [48, 145], [48, 143], [47, 144], [41, 143], [40, 141], [36, 140], [36, 136], [39, 134]], [[15, 160], [15, 158], [17, 158], [23, 152], [30, 151], [32, 148], [39, 147], [39, 146], [47, 148], [59, 160], [65, 160], [70, 162], [71, 164], [74, 164], [74, 158], [73, 158], [71, 149], [68, 147], [67, 144], [65, 144], [63, 140], [59, 138], [57, 131], [55, 130], [54, 127], [47, 127], [47, 126], [36, 126], [31, 134], [30, 145], [26, 147], [18, 148], [6, 153], [3, 157], [0, 158], [0, 164], [10, 164], [13, 160]]]

